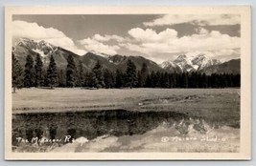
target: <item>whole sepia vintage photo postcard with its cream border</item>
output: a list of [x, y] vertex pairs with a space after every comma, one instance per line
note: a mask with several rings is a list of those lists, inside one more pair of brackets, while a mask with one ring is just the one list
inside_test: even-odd
[[250, 159], [249, 6], [6, 7], [8, 160]]

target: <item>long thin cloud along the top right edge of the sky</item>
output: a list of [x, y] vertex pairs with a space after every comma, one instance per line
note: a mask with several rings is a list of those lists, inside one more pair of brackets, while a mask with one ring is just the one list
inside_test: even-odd
[[152, 20], [151, 22], [144, 22], [143, 24], [147, 27], [153, 26], [165, 26], [165, 25], [175, 25], [181, 23], [191, 23], [200, 26], [210, 25], [236, 25], [240, 24], [241, 18], [238, 14], [180, 14], [180, 15], [163, 15], [159, 18]]

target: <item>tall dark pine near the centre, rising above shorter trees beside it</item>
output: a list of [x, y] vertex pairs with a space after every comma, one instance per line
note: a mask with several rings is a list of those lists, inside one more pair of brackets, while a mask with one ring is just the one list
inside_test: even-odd
[[136, 74], [136, 66], [131, 61], [128, 60], [127, 73], [126, 73], [126, 86], [132, 88], [136, 86], [138, 82], [137, 74]]

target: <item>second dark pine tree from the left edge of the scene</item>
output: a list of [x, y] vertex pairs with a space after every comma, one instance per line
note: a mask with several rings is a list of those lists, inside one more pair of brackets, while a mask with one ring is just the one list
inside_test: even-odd
[[24, 71], [24, 87], [31, 88], [34, 86], [35, 73], [34, 73], [34, 60], [28, 54], [26, 57], [25, 71]]

